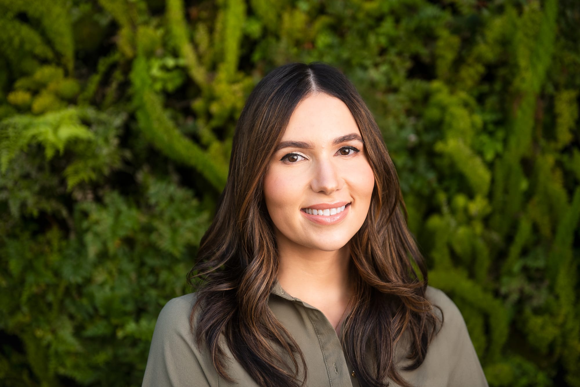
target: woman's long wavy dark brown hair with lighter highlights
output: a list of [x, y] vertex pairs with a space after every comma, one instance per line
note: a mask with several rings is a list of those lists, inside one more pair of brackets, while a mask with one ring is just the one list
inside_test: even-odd
[[425, 264], [408, 231], [397, 172], [371, 112], [346, 76], [324, 63], [278, 67], [248, 97], [234, 134], [226, 188], [187, 276], [192, 286], [194, 279], [201, 280], [190, 324], [197, 344], [208, 348], [224, 379], [233, 381], [219, 345], [222, 335], [260, 386], [305, 384], [303, 353], [268, 306], [278, 253], [262, 183], [292, 112], [313, 93], [336, 97], [349, 107], [375, 175], [367, 218], [349, 242], [356, 293], [344, 322], [343, 345], [361, 386], [386, 386], [387, 378], [409, 386], [393, 355], [405, 334], [411, 360], [405, 369], [419, 367], [436, 332], [437, 317], [425, 298]]

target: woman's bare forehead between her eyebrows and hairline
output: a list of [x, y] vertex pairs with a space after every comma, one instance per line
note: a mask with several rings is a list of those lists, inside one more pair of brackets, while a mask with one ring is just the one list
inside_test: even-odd
[[296, 107], [282, 136], [286, 140], [333, 140], [349, 133], [358, 133], [358, 126], [343, 101], [328, 94], [314, 94]]

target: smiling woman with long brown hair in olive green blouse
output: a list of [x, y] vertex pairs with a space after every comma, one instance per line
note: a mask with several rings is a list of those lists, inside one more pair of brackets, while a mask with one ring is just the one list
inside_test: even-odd
[[190, 283], [144, 386], [486, 386], [461, 313], [427, 286], [396, 170], [335, 68], [271, 71], [237, 124]]

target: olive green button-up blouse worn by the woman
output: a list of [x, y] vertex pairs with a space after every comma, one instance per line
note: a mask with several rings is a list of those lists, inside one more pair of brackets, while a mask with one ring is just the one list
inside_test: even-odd
[[[441, 308], [444, 324], [429, 345], [423, 364], [413, 371], [400, 371], [403, 378], [415, 386], [487, 386], [483, 369], [457, 306], [443, 291], [430, 286], [427, 287], [426, 298]], [[144, 387], [236, 385], [219, 377], [207, 349], [200, 349], [195, 344], [189, 326], [189, 315], [194, 301], [195, 293], [186, 294], [173, 298], [161, 310], [151, 340], [143, 378]], [[359, 386], [338, 335], [320, 310], [292, 297], [278, 282], [271, 291], [269, 306], [305, 355], [308, 367], [307, 386]], [[435, 311], [438, 309], [435, 308]], [[401, 339], [400, 342], [405, 340]], [[403, 346], [404, 344], [397, 345], [395, 350], [398, 366], [404, 366], [408, 362]], [[223, 348], [230, 359], [233, 359], [227, 345]], [[229, 375], [237, 381], [237, 386], [258, 386], [235, 360], [231, 360]], [[392, 381], [390, 385], [398, 386]]]

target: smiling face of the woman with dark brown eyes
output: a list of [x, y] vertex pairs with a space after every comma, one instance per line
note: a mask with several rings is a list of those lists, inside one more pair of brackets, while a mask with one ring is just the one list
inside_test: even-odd
[[374, 184], [360, 130], [345, 103], [322, 93], [305, 98], [264, 177], [278, 245], [323, 251], [345, 246], [367, 217]]

